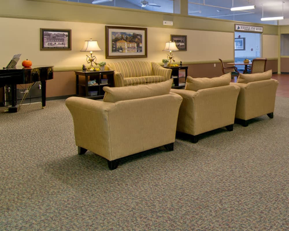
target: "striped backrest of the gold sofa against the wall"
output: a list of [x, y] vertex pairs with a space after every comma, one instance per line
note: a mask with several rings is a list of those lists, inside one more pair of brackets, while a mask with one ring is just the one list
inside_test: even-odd
[[149, 61], [126, 60], [109, 63], [107, 66], [112, 70], [121, 72], [124, 78], [153, 75], [153, 69]]

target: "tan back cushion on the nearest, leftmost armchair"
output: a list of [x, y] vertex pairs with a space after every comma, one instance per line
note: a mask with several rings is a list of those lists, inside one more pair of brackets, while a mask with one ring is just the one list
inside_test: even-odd
[[160, 83], [147, 85], [127, 86], [127, 87], [103, 87], [105, 91], [103, 101], [115, 103], [120, 100], [147, 98], [169, 94], [173, 79]]

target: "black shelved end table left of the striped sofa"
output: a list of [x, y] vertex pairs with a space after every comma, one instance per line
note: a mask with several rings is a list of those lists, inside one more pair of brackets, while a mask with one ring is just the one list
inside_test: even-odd
[[[104, 86], [113, 87], [113, 70], [109, 71], [75, 71], [75, 77], [76, 77], [76, 95], [82, 96], [90, 99], [98, 99], [103, 98]], [[103, 78], [103, 75], [106, 75], [106, 78], [108, 79], [108, 83], [101, 83], [101, 79]], [[84, 76], [84, 81], [79, 81], [79, 76]], [[95, 85], [88, 85], [88, 81], [95, 80], [97, 84]], [[80, 83], [81, 82], [81, 83]], [[79, 94], [79, 88], [84, 88], [84, 94]], [[89, 92], [94, 93], [95, 95], [90, 96]]]

